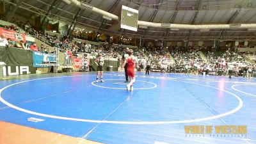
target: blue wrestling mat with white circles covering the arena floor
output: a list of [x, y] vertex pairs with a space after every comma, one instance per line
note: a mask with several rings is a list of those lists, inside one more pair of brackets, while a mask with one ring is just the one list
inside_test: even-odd
[[32, 76], [0, 81], [1, 121], [109, 144], [256, 143], [255, 78], [138, 72], [127, 92], [121, 72]]

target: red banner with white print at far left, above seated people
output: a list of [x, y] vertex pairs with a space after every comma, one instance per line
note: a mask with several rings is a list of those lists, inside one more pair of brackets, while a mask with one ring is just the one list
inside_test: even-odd
[[10, 38], [11, 40], [16, 42], [19, 42], [20, 40], [26, 42], [24, 33], [17, 33], [16, 31], [0, 28], [0, 35], [3, 35], [4, 38]]

